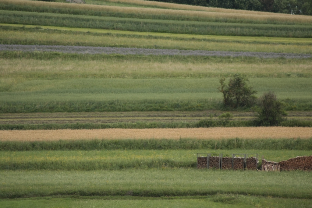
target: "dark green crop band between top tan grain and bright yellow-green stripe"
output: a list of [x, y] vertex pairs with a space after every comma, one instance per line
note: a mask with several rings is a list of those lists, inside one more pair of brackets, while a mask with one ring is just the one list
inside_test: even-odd
[[27, 24], [58, 27], [81, 27], [141, 32], [164, 32], [198, 35], [312, 37], [311, 26], [239, 24], [148, 20], [119, 17], [92, 17], [37, 12], [1, 11], [0, 21], [8, 24]]

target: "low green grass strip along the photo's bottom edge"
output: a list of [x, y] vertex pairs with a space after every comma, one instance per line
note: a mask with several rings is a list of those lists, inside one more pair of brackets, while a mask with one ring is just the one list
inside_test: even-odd
[[285, 199], [263, 196], [245, 196], [235, 194], [217, 194], [212, 196], [185, 196], [185, 197], [135, 197], [135, 196], [97, 196], [97, 197], [35, 197], [26, 199], [2, 199], [3, 208], [76, 208], [76, 207], [150, 207], [150, 208], [252, 208], [252, 207], [281, 207], [310, 208], [310, 199]]

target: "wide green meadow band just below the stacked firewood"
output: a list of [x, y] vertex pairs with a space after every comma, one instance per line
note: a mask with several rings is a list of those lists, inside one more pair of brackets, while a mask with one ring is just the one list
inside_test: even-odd
[[149, 169], [0, 171], [0, 197], [207, 196], [218, 193], [312, 199], [311, 172]]

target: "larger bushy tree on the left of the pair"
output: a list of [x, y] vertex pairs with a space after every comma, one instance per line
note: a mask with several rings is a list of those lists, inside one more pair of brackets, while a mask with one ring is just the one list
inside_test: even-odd
[[219, 87], [218, 90], [223, 93], [225, 106], [238, 108], [251, 106], [254, 103], [256, 99], [254, 94], [256, 94], [257, 91], [247, 85], [247, 78], [241, 76], [241, 74], [235, 74], [227, 85], [224, 81], [224, 77], [219, 80], [221, 87]]

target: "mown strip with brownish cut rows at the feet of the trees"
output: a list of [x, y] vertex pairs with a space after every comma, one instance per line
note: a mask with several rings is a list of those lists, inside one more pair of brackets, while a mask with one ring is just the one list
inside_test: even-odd
[[[116, 122], [198, 122], [201, 119], [218, 119], [222, 111], [148, 111], [148, 112], [68, 112], [68, 113], [5, 113], [0, 114], [1, 124], [49, 123], [116, 123]], [[232, 111], [234, 120], [255, 118], [254, 112]], [[288, 119], [311, 120], [312, 111], [289, 111]]]

